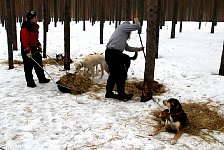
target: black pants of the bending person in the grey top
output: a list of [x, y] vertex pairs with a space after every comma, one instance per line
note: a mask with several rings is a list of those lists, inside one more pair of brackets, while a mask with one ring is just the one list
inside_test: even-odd
[[124, 66], [124, 54], [116, 49], [106, 49], [105, 60], [109, 68], [106, 92], [111, 93], [116, 84], [118, 95], [125, 94], [127, 71]]

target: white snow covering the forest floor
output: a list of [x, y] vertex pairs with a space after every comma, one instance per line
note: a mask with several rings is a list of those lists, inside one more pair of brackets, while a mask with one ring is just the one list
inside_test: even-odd
[[[40, 41], [43, 40], [42, 23]], [[99, 22], [91, 26], [87, 22], [82, 31], [82, 22], [71, 22], [71, 58], [74, 63], [93, 52], [104, 52], [115, 25], [105, 23], [104, 44], [99, 40]], [[19, 35], [20, 25], [17, 24]], [[181, 103], [208, 102], [220, 106], [224, 114], [224, 77], [218, 75], [224, 40], [224, 23], [218, 22], [215, 33], [210, 33], [211, 23], [204, 22], [198, 29], [197, 22], [184, 22], [183, 31], [176, 28], [176, 38], [170, 39], [171, 22], [160, 30], [159, 59], [156, 59], [155, 80], [168, 87], [168, 91], [154, 99], [162, 105], [164, 99], [174, 97]], [[47, 33], [47, 54], [63, 53], [64, 33], [61, 23], [49, 25]], [[146, 41], [146, 22], [141, 34]], [[20, 47], [20, 39], [18, 45]], [[15, 64], [9, 70], [7, 36], [0, 27], [0, 147], [7, 150], [72, 150], [72, 149], [224, 149], [224, 133], [214, 132], [214, 142], [208, 143], [197, 136], [186, 133], [171, 145], [172, 133], [149, 136], [155, 129], [152, 111], [160, 109], [150, 100], [141, 103], [139, 97], [121, 102], [104, 98], [105, 89], [98, 93], [81, 95], [61, 93], [55, 81], [65, 72], [55, 65], [44, 69], [53, 78], [48, 84], [39, 84], [36, 74], [36, 88], [26, 86], [23, 65]], [[129, 45], [141, 46], [137, 31], [133, 32]], [[133, 55], [133, 53], [128, 53]], [[22, 60], [20, 48], [13, 52], [15, 60]], [[69, 72], [74, 73], [74, 63]], [[145, 60], [143, 53], [132, 61], [128, 72], [129, 81], [143, 80]], [[105, 84], [108, 74], [95, 82]]]

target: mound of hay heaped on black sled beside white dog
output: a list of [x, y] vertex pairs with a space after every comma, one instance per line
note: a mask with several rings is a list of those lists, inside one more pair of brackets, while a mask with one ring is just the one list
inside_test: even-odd
[[76, 95], [87, 92], [92, 81], [88, 75], [68, 73], [60, 78], [58, 84], [71, 89], [71, 93]]

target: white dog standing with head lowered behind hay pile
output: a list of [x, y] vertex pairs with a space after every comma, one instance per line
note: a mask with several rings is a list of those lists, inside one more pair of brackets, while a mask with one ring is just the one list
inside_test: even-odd
[[[78, 73], [81, 68], [87, 68], [87, 72], [91, 71], [92, 80], [94, 79], [94, 68], [98, 65], [101, 66], [101, 77], [104, 75], [104, 70], [109, 73], [108, 66], [105, 61], [105, 56], [99, 53], [89, 54], [84, 59], [75, 64], [75, 73]], [[85, 71], [85, 70], [84, 70]]]

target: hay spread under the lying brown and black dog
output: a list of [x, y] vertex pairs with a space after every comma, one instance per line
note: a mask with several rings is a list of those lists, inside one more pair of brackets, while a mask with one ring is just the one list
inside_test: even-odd
[[[207, 129], [209, 132], [224, 132], [224, 116], [218, 114], [218, 108], [210, 109], [208, 103], [189, 103], [181, 105], [188, 117], [188, 124], [183, 128], [184, 133], [199, 136], [211, 142], [211, 140], [216, 141], [216, 139], [211, 138], [211, 135], [208, 135], [206, 132], [202, 132], [202, 129]], [[153, 111], [155, 117], [158, 117], [159, 113], [159, 110]], [[155, 128], [159, 126], [160, 124], [158, 122]]]

